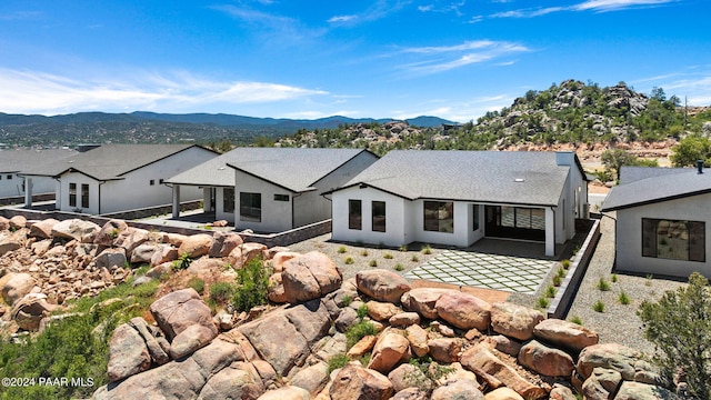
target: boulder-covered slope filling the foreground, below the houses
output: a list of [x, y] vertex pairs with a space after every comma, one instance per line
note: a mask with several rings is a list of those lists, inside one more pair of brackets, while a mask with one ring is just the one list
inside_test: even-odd
[[[237, 233], [0, 218], [0, 261], [2, 326], [42, 331], [0, 341], [0, 376], [28, 378], [7, 380], [8, 398], [674, 398], [641, 353], [599, 343], [575, 323], [459, 290], [412, 289], [388, 270], [343, 280], [321, 252], [267, 249]], [[271, 304], [240, 313], [214, 303], [213, 288], [254, 262], [271, 273]], [[127, 279], [131, 294], [103, 296]], [[138, 289], [159, 281], [143, 306]], [[61, 331], [70, 332], [67, 342], [51, 342]], [[90, 333], [77, 338], [80, 331]], [[97, 352], [106, 358], [87, 359]], [[61, 359], [71, 360], [67, 370]], [[90, 362], [96, 368], [86, 369]], [[72, 380], [38, 389], [48, 377]], [[88, 391], [61, 391], [74, 384]]]

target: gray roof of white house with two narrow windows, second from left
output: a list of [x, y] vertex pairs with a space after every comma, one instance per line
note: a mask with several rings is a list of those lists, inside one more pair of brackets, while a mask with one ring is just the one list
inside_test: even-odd
[[[121, 179], [126, 173], [152, 164], [197, 144], [103, 144], [73, 157], [22, 171], [28, 176], [59, 177], [81, 172], [96, 180]], [[206, 151], [211, 151], [204, 149]]]

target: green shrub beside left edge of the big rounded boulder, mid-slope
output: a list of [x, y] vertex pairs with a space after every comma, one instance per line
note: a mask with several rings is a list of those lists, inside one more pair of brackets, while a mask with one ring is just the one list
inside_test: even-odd
[[269, 300], [269, 277], [271, 268], [263, 266], [261, 258], [249, 260], [237, 270], [237, 289], [232, 306], [238, 311], [249, 311], [253, 307], [266, 304]]

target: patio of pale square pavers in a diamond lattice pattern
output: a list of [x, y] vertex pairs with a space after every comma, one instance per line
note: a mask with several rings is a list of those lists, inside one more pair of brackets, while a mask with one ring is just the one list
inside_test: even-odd
[[519, 293], [535, 293], [555, 262], [464, 250], [447, 250], [404, 277]]

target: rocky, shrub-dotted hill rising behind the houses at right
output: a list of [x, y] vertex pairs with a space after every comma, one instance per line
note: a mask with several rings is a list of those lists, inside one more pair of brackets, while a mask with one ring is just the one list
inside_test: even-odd
[[[625, 83], [600, 88], [567, 80], [530, 90], [511, 107], [462, 126], [415, 129], [404, 122], [359, 123], [338, 129], [306, 131], [283, 138], [286, 147], [368, 147], [378, 153], [390, 149], [505, 150], [595, 143], [675, 142], [690, 132], [711, 133], [711, 112], [687, 112], [679, 99], [662, 89], [650, 96]], [[705, 122], [705, 124], [704, 124]]]

